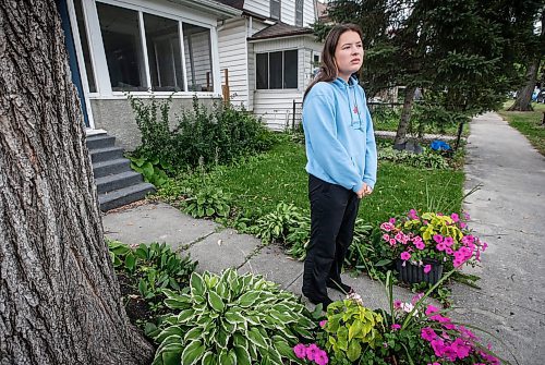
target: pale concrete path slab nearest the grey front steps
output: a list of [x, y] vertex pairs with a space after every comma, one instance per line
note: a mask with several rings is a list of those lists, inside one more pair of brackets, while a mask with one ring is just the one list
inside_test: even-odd
[[173, 250], [220, 229], [213, 221], [194, 219], [165, 203], [148, 203], [106, 214], [102, 227], [110, 240], [126, 244], [166, 242]]

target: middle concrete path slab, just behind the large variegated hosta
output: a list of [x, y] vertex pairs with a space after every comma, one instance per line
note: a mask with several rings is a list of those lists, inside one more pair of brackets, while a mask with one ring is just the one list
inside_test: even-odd
[[198, 271], [219, 273], [227, 268], [239, 268], [262, 245], [262, 241], [252, 235], [238, 234], [226, 229], [195, 242], [182, 253], [189, 253], [198, 261]]

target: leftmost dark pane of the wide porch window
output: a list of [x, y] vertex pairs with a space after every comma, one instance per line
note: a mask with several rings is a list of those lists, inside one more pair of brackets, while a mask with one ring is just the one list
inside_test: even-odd
[[113, 92], [147, 90], [138, 12], [97, 2]]

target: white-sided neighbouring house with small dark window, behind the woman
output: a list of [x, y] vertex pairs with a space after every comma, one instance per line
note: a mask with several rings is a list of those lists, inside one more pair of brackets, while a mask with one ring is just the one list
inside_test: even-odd
[[[300, 112], [305, 87], [320, 61], [310, 24], [315, 0], [217, 0], [242, 10], [218, 27], [220, 69], [228, 70], [231, 102], [282, 130]], [[225, 73], [221, 82], [226, 84]], [[295, 111], [298, 113], [298, 111]]]

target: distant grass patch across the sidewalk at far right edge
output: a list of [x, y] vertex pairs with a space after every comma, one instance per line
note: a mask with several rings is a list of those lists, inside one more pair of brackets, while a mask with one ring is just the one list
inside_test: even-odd
[[512, 101], [506, 102], [498, 113], [507, 120], [509, 125], [522, 133], [540, 154], [545, 156], [545, 126], [541, 124], [545, 105], [533, 102], [534, 111], [507, 111], [511, 105]]

